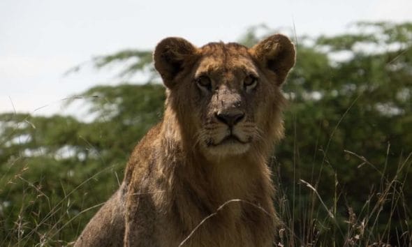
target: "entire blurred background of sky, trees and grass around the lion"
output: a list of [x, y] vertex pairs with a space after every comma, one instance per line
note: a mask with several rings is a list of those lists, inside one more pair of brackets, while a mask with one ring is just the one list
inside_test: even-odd
[[163, 112], [168, 36], [288, 35], [277, 246], [410, 246], [412, 1], [0, 2], [0, 246], [66, 246]]

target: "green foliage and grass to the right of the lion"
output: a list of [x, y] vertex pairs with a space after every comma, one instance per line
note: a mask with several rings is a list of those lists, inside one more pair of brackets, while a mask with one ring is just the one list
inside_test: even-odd
[[[411, 241], [412, 43], [404, 37], [412, 26], [359, 25], [360, 33], [297, 47], [296, 68], [284, 87], [293, 100], [277, 165], [279, 184], [292, 200], [290, 227], [299, 229], [295, 244]], [[333, 60], [342, 51], [348, 58]], [[326, 210], [302, 180], [322, 195]]]

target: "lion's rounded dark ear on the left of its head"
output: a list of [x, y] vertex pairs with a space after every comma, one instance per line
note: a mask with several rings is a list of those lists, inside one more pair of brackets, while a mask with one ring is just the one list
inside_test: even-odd
[[165, 38], [154, 50], [154, 68], [159, 71], [166, 87], [173, 86], [177, 73], [196, 54], [196, 47], [184, 38]]

